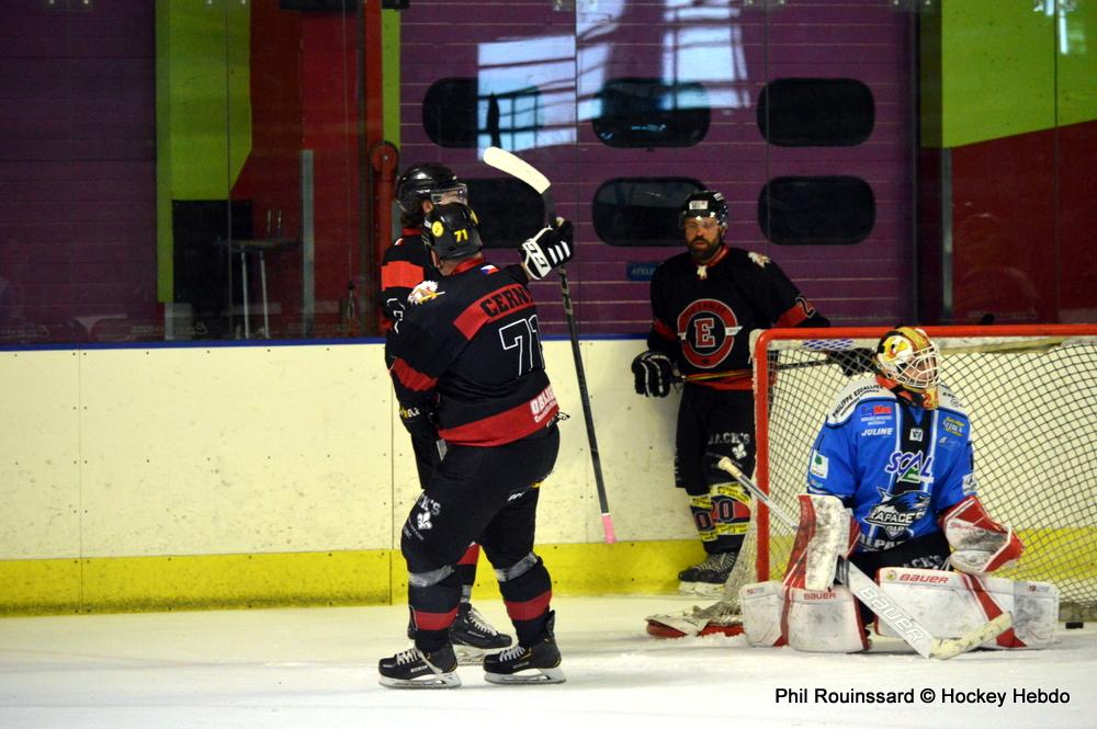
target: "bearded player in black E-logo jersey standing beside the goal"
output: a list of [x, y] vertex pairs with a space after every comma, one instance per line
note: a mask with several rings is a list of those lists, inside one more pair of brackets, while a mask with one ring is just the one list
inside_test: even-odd
[[632, 363], [636, 392], [665, 397], [685, 381], [675, 443], [675, 485], [689, 496], [708, 556], [682, 570], [680, 591], [719, 594], [750, 521], [747, 493], [716, 467], [722, 456], [755, 464], [750, 332], [826, 327], [776, 263], [724, 241], [727, 203], [693, 193], [679, 216], [688, 251], [655, 270], [647, 351]]

